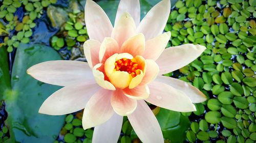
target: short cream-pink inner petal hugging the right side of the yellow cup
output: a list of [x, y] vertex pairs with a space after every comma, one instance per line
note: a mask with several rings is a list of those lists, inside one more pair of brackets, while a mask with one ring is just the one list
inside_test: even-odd
[[144, 85], [153, 81], [159, 73], [159, 67], [154, 60], [146, 60], [146, 73], [140, 82], [140, 85]]

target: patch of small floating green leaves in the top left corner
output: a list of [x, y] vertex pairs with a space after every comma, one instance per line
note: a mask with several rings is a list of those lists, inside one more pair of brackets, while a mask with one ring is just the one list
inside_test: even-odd
[[[53, 1], [54, 2], [54, 1]], [[28, 2], [28, 1], [11, 1], [11, 0], [5, 0], [3, 1], [3, 5], [0, 9], [0, 18], [3, 18], [3, 20], [6, 20], [9, 22], [6, 24], [6, 30], [11, 31], [14, 30], [16, 32], [12, 32], [12, 36], [15, 36], [18, 34], [18, 32], [25, 33], [24, 37], [19, 34], [17, 40], [14, 41], [11, 45], [9, 44], [8, 52], [11, 52], [13, 50], [13, 47], [18, 47], [19, 43], [29, 43], [30, 37], [32, 36], [32, 30], [31, 28], [34, 28], [36, 24], [33, 22], [37, 17], [40, 17], [42, 7], [40, 7], [40, 2]], [[56, 1], [55, 1], [56, 3]], [[25, 8], [25, 16], [24, 17], [17, 17], [14, 16], [14, 13], [16, 14], [17, 8], [24, 7]], [[38, 12], [40, 12], [38, 14]], [[18, 18], [22, 18], [22, 21], [19, 21]], [[5, 22], [6, 22], [5, 21]], [[2, 44], [2, 43], [1, 43]], [[3, 43], [4, 45], [7, 45], [7, 43]]]

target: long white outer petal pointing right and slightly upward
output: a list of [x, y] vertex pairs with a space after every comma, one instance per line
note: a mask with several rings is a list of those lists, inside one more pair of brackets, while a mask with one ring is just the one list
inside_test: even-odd
[[205, 46], [184, 44], [164, 49], [163, 53], [157, 59], [159, 74], [165, 74], [180, 69], [193, 62], [206, 49]]

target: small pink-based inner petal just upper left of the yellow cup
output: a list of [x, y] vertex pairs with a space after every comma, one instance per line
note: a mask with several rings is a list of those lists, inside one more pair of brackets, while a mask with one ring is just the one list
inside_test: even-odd
[[118, 43], [113, 38], [105, 38], [100, 45], [99, 49], [99, 61], [104, 63], [111, 55], [118, 53]]

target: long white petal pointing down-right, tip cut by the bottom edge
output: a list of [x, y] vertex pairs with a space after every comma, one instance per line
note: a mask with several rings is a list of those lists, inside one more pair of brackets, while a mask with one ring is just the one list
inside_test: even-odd
[[136, 110], [127, 117], [142, 142], [164, 142], [158, 121], [145, 101], [138, 100]]

